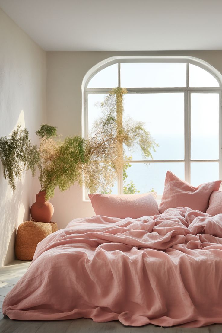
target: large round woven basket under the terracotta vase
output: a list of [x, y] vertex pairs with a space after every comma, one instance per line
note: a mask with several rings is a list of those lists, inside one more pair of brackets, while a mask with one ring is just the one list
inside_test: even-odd
[[19, 260], [32, 260], [37, 244], [52, 233], [50, 223], [25, 221], [17, 230], [15, 254]]

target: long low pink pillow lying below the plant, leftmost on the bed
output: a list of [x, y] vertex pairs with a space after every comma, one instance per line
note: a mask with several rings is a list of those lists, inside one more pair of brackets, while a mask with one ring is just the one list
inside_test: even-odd
[[89, 194], [96, 215], [138, 218], [159, 215], [156, 192], [144, 194]]

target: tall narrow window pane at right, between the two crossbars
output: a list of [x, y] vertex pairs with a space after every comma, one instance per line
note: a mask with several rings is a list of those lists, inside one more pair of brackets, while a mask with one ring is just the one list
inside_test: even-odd
[[191, 160], [217, 160], [219, 94], [191, 94]]

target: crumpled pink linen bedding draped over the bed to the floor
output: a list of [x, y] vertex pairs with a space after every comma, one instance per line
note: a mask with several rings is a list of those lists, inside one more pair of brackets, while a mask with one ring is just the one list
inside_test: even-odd
[[19, 320], [222, 323], [222, 214], [76, 219], [41, 241], [3, 302]]

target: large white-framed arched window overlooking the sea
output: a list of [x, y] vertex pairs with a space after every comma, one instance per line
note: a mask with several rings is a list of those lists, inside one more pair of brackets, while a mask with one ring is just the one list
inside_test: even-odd
[[132, 191], [161, 197], [167, 170], [194, 186], [221, 179], [220, 73], [195, 58], [112, 59], [85, 78], [86, 137], [101, 112], [96, 103], [117, 86], [128, 91], [125, 115], [145, 122], [159, 147], [145, 161], [126, 151], [128, 168], [112, 193], [130, 193], [133, 184]]

